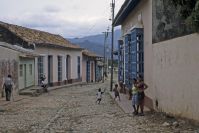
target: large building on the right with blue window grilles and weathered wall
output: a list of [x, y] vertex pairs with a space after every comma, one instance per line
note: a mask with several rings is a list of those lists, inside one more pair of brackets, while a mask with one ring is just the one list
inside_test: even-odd
[[144, 76], [150, 108], [199, 120], [199, 35], [176, 10], [170, 0], [125, 0], [114, 19], [122, 27], [119, 74], [128, 87]]

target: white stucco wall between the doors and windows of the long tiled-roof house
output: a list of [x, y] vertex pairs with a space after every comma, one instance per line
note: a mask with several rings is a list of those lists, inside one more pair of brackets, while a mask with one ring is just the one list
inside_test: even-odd
[[[62, 80], [66, 78], [66, 56], [71, 57], [71, 79], [77, 79], [77, 57], [80, 56], [80, 66], [82, 67], [82, 52], [80, 50], [71, 49], [59, 49], [50, 47], [36, 47], [35, 53], [44, 56], [44, 73], [46, 75], [46, 81], [48, 81], [48, 55], [53, 56], [53, 82], [58, 81], [58, 62], [57, 57], [62, 56]], [[36, 61], [37, 62], [37, 61]], [[82, 69], [80, 68], [80, 77], [82, 77]], [[36, 76], [36, 78], [38, 78]], [[38, 79], [37, 79], [38, 80]]]

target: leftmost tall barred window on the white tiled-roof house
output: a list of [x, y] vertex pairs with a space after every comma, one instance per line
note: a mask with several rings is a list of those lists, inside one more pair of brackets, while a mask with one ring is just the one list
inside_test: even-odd
[[44, 57], [38, 57], [38, 83], [41, 84], [41, 77], [44, 76]]

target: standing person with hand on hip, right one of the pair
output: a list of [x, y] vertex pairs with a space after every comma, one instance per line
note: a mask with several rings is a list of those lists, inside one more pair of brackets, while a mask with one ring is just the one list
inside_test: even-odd
[[[138, 78], [138, 101], [139, 101], [139, 106], [140, 106], [140, 116], [144, 116], [144, 98], [145, 98], [145, 93], [144, 91], [148, 88], [148, 85], [144, 83], [142, 76], [139, 76]], [[139, 106], [137, 110], [139, 110]]]

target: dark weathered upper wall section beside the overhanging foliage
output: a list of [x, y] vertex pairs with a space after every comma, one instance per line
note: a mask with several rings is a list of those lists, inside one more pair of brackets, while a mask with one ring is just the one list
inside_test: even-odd
[[153, 43], [190, 33], [171, 0], [153, 0]]

